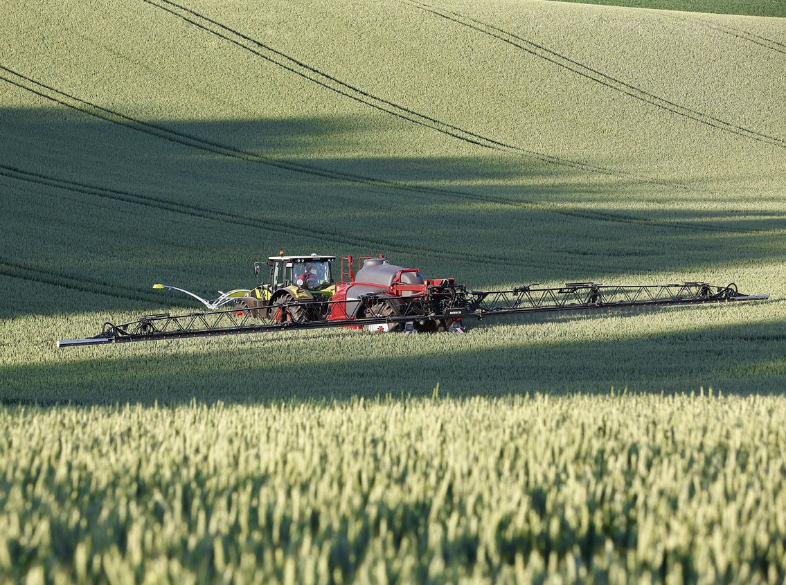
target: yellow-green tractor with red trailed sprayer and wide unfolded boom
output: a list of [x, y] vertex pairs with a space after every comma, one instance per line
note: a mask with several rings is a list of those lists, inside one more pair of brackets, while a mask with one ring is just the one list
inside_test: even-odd
[[368, 328], [402, 333], [464, 332], [464, 324], [501, 315], [553, 311], [670, 307], [705, 303], [739, 303], [766, 300], [769, 295], [747, 295], [735, 284], [711, 285], [684, 281], [663, 285], [604, 285], [568, 282], [558, 287], [538, 283], [507, 290], [476, 291], [454, 278], [424, 278], [418, 268], [391, 264], [384, 256], [340, 259], [317, 254], [287, 256], [284, 250], [266, 262], [254, 264], [269, 270], [266, 281], [254, 289], [220, 292], [206, 300], [171, 285], [155, 289], [183, 292], [200, 301], [208, 311], [182, 315], [145, 315], [135, 321], [104, 324], [101, 333], [84, 339], [61, 340], [57, 346], [118, 344], [131, 341], [217, 337], [241, 333], [273, 333], [325, 327]]

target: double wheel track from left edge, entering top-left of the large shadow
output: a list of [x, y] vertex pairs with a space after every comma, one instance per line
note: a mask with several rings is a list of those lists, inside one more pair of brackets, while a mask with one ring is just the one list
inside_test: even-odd
[[716, 231], [716, 229], [711, 226], [702, 226], [700, 224], [677, 225], [668, 222], [658, 223], [648, 219], [628, 220], [625, 218], [625, 216], [615, 215], [610, 213], [601, 213], [601, 212], [594, 212], [593, 215], [586, 215], [586, 212], [572, 212], [570, 210], [554, 209], [547, 204], [537, 204], [527, 201], [520, 201], [509, 197], [488, 196], [488, 195], [480, 195], [476, 193], [467, 193], [465, 191], [459, 191], [454, 189], [439, 189], [436, 187], [417, 186], [406, 182], [391, 181], [391, 180], [380, 179], [380, 178], [369, 178], [363, 175], [352, 175], [341, 171], [329, 171], [328, 169], [323, 169], [321, 167], [312, 167], [305, 164], [292, 163], [291, 161], [279, 160], [274, 157], [263, 156], [256, 153], [252, 153], [250, 151], [237, 149], [233, 146], [223, 145], [219, 142], [215, 142], [207, 138], [194, 136], [193, 134], [186, 134], [183, 132], [174, 131], [171, 130], [171, 128], [165, 127], [158, 123], [150, 123], [150, 122], [145, 122], [143, 120], [138, 120], [137, 118], [134, 118], [132, 116], [127, 116], [122, 112], [116, 112], [115, 110], [105, 108], [101, 105], [96, 105], [90, 101], [83, 100], [82, 98], [77, 98], [74, 95], [68, 94], [62, 90], [57, 90], [52, 86], [36, 81], [35, 79], [32, 79], [27, 75], [23, 75], [19, 72], [16, 72], [13, 69], [7, 68], [2, 64], [0, 64], [0, 71], [6, 72], [6, 74], [8, 75], [13, 75], [18, 78], [18, 79], [12, 79], [8, 75], [3, 75], [2, 73], [0, 73], [0, 79], [6, 81], [6, 83], [11, 83], [12, 85], [17, 86], [22, 90], [36, 94], [41, 98], [46, 98], [50, 101], [54, 101], [55, 103], [59, 105], [63, 105], [68, 109], [73, 109], [77, 112], [81, 112], [86, 116], [92, 116], [99, 120], [105, 120], [106, 122], [115, 123], [129, 130], [134, 130], [134, 131], [142, 132], [144, 134], [149, 134], [153, 137], [167, 140], [168, 142], [174, 142], [176, 144], [185, 145], [208, 153], [227, 156], [236, 160], [244, 160], [246, 162], [266, 164], [273, 167], [284, 169], [286, 171], [305, 173], [307, 175], [318, 176], [320, 178], [331, 178], [336, 181], [351, 182], [351, 183], [369, 186], [373, 188], [398, 189], [410, 193], [427, 193], [429, 195], [435, 195], [438, 197], [450, 197], [463, 201], [472, 201], [472, 202], [486, 203], [486, 204], [491, 203], [491, 204], [510, 205], [514, 208], [527, 209], [530, 211], [538, 211], [538, 212], [547, 212], [556, 215], [579, 216], [579, 214], [583, 213], [584, 215], [580, 215], [580, 216], [586, 217], [588, 219], [597, 219], [599, 221], [611, 221], [615, 223], [634, 223], [637, 225], [642, 225], [642, 224], [659, 225], [659, 226], [667, 227], [669, 229], [678, 229], [678, 230], [696, 229], [696, 230]]

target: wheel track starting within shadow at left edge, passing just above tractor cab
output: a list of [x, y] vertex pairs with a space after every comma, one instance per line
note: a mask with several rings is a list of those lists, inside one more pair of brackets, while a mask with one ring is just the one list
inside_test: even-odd
[[[308, 230], [303, 230], [297, 226], [281, 222], [269, 222], [264, 219], [253, 218], [249, 219], [242, 215], [236, 215], [228, 212], [221, 212], [211, 208], [204, 208], [199, 205], [182, 204], [175, 201], [163, 199], [160, 197], [152, 197], [149, 195], [140, 195], [138, 193], [130, 193], [120, 189], [107, 189], [101, 186], [92, 186], [85, 183], [68, 181], [61, 178], [55, 178], [40, 173], [30, 171], [22, 171], [17, 167], [8, 167], [0, 165], [0, 176], [6, 178], [13, 178], [24, 182], [31, 182], [43, 186], [50, 186], [56, 189], [64, 189], [72, 193], [81, 193], [94, 197], [103, 197], [115, 201], [123, 201], [124, 203], [138, 204], [149, 208], [160, 209], [167, 212], [179, 213], [182, 215], [189, 215], [199, 219], [209, 219], [219, 223], [229, 223], [237, 226], [251, 227], [259, 229], [263, 227], [265, 230], [272, 231], [277, 234], [287, 234], [296, 236], [315, 237], [323, 241], [332, 241], [336, 244], [354, 245], [367, 247], [369, 245], [376, 245], [380, 248], [389, 250], [390, 252], [397, 252], [401, 254], [415, 255], [415, 251], [410, 248], [402, 247], [398, 242], [386, 241], [378, 238], [371, 237], [351, 237], [343, 234], [336, 234], [328, 230], [318, 230], [310, 227]], [[437, 248], [428, 248], [423, 246], [417, 247], [417, 252], [427, 252], [432, 256], [443, 257], [447, 259], [461, 259], [469, 263], [476, 264], [495, 264], [498, 266], [510, 266], [510, 259], [503, 256], [492, 256], [487, 254], [478, 254], [475, 252], [461, 251], [460, 254], [453, 254], [440, 250]], [[542, 269], [543, 267], [561, 266], [570, 268], [567, 263], [559, 263], [554, 261], [520, 263], [519, 266], [531, 267]], [[601, 270], [603, 266], [587, 266]]]

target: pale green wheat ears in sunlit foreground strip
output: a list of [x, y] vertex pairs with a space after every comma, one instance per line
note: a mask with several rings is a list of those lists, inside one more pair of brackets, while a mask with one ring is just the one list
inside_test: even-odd
[[778, 398], [0, 410], [27, 583], [782, 583]]

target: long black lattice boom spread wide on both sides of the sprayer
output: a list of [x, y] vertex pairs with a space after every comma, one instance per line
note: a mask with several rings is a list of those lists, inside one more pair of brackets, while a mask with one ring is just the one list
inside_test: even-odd
[[[369, 326], [394, 323], [446, 322], [525, 313], [661, 307], [766, 300], [769, 295], [741, 294], [735, 284], [710, 285], [689, 281], [669, 285], [603, 285], [569, 282], [537, 288], [537, 283], [509, 290], [472, 291], [461, 285], [429, 286], [414, 296], [369, 294], [362, 296], [362, 318], [329, 319], [330, 305], [345, 301], [302, 300], [275, 304], [268, 309], [231, 309], [184, 315], [145, 315], [121, 325], [104, 324], [101, 333], [84, 339], [61, 340], [57, 347], [119, 344], [136, 341], [219, 337], [244, 333], [274, 333], [299, 329]], [[318, 317], [318, 318], [315, 318]]]

